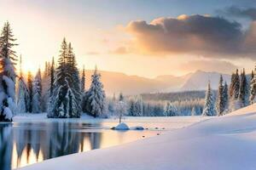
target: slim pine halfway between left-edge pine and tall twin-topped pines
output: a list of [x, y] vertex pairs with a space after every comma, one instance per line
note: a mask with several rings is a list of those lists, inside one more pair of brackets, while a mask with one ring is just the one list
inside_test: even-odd
[[40, 113], [42, 111], [42, 78], [40, 69], [38, 69], [38, 73], [33, 80], [32, 94], [32, 112]]

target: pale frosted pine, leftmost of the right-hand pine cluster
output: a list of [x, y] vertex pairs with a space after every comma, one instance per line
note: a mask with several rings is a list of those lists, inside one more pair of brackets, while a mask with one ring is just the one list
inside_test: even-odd
[[214, 101], [210, 82], [208, 82], [207, 85], [206, 99], [202, 116], [214, 116]]

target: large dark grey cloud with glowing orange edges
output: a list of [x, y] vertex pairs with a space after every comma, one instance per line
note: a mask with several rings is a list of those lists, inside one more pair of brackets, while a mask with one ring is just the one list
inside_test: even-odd
[[241, 24], [208, 15], [180, 15], [177, 18], [158, 18], [149, 24], [144, 20], [131, 21], [126, 26], [134, 43], [144, 53], [197, 54], [209, 58], [238, 58], [256, 56], [256, 41], [251, 30], [241, 30]]

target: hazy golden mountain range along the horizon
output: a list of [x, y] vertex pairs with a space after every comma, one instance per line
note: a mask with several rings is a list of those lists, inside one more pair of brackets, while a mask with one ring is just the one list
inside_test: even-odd
[[[213, 89], [218, 88], [218, 72], [195, 71], [182, 77], [162, 75], [155, 78], [128, 76], [124, 73], [113, 71], [99, 71], [102, 74], [102, 82], [108, 96], [166, 93], [174, 91], [205, 90], [210, 80]], [[90, 88], [90, 77], [93, 71], [85, 71], [85, 87]], [[230, 75], [225, 75], [224, 80], [230, 83]]]

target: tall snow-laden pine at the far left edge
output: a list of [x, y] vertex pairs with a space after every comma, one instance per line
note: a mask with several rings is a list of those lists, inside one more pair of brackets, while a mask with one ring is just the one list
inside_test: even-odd
[[13, 47], [17, 45], [15, 44], [15, 40], [9, 22], [7, 21], [3, 26], [3, 31], [0, 36], [0, 65], [2, 67], [0, 72], [0, 108], [4, 110], [9, 107], [12, 116], [15, 114], [16, 110], [15, 65], [17, 56], [13, 50]]

